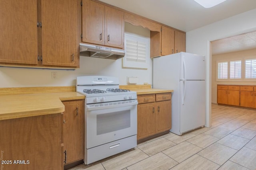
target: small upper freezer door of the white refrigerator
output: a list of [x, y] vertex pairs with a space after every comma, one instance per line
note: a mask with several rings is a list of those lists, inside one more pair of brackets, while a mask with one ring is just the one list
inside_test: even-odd
[[180, 53], [180, 80], [205, 80], [205, 56]]

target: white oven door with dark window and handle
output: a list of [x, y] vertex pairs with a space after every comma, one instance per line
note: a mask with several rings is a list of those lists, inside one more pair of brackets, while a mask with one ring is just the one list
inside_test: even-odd
[[137, 134], [137, 100], [86, 105], [86, 149]]

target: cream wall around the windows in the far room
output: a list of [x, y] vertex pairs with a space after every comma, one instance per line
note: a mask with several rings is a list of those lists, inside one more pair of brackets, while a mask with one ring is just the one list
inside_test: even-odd
[[[234, 81], [217, 81], [217, 61], [232, 59], [242, 60], [242, 58], [256, 58], [256, 49], [237, 51], [233, 53], [225, 53], [212, 55], [212, 103], [217, 103], [217, 84], [239, 84], [239, 85], [255, 85], [255, 81], [242, 81], [234, 79]], [[234, 61], [234, 60], [233, 60]]]

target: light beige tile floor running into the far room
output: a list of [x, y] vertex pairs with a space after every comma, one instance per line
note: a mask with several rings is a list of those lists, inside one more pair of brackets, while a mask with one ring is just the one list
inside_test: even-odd
[[256, 170], [256, 110], [212, 105], [212, 127], [169, 133], [70, 170]]

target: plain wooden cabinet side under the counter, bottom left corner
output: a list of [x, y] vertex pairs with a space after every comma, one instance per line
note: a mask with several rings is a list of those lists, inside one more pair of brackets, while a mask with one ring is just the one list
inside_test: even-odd
[[0, 129], [1, 170], [63, 169], [63, 114], [1, 120]]

